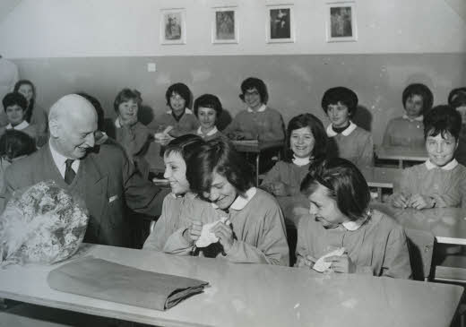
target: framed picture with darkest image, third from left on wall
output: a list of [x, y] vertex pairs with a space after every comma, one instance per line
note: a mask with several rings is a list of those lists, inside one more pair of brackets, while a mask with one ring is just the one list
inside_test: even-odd
[[292, 4], [267, 5], [267, 43], [295, 41]]

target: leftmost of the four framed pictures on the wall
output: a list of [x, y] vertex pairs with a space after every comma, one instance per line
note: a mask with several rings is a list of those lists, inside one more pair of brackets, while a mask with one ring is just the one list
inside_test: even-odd
[[160, 10], [160, 43], [186, 44], [186, 10]]

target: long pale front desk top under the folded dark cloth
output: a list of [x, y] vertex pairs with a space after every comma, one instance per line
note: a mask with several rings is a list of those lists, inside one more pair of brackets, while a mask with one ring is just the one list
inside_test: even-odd
[[[0, 270], [0, 297], [162, 326], [448, 326], [459, 286], [182, 257], [103, 245], [79, 255], [210, 282], [203, 294], [166, 312], [58, 292], [47, 273], [57, 267]], [[109, 276], [110, 277], [110, 276]]]

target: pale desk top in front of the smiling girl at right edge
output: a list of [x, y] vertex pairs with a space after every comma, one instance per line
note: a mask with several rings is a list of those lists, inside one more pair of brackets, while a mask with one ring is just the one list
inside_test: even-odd
[[371, 203], [384, 211], [404, 228], [432, 232], [438, 243], [466, 245], [466, 211], [461, 208], [434, 208], [416, 210], [395, 208], [386, 203]]

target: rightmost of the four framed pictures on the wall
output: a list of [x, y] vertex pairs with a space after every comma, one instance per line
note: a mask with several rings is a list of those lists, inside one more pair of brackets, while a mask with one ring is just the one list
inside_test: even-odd
[[327, 42], [358, 40], [354, 2], [327, 4], [326, 21]]

